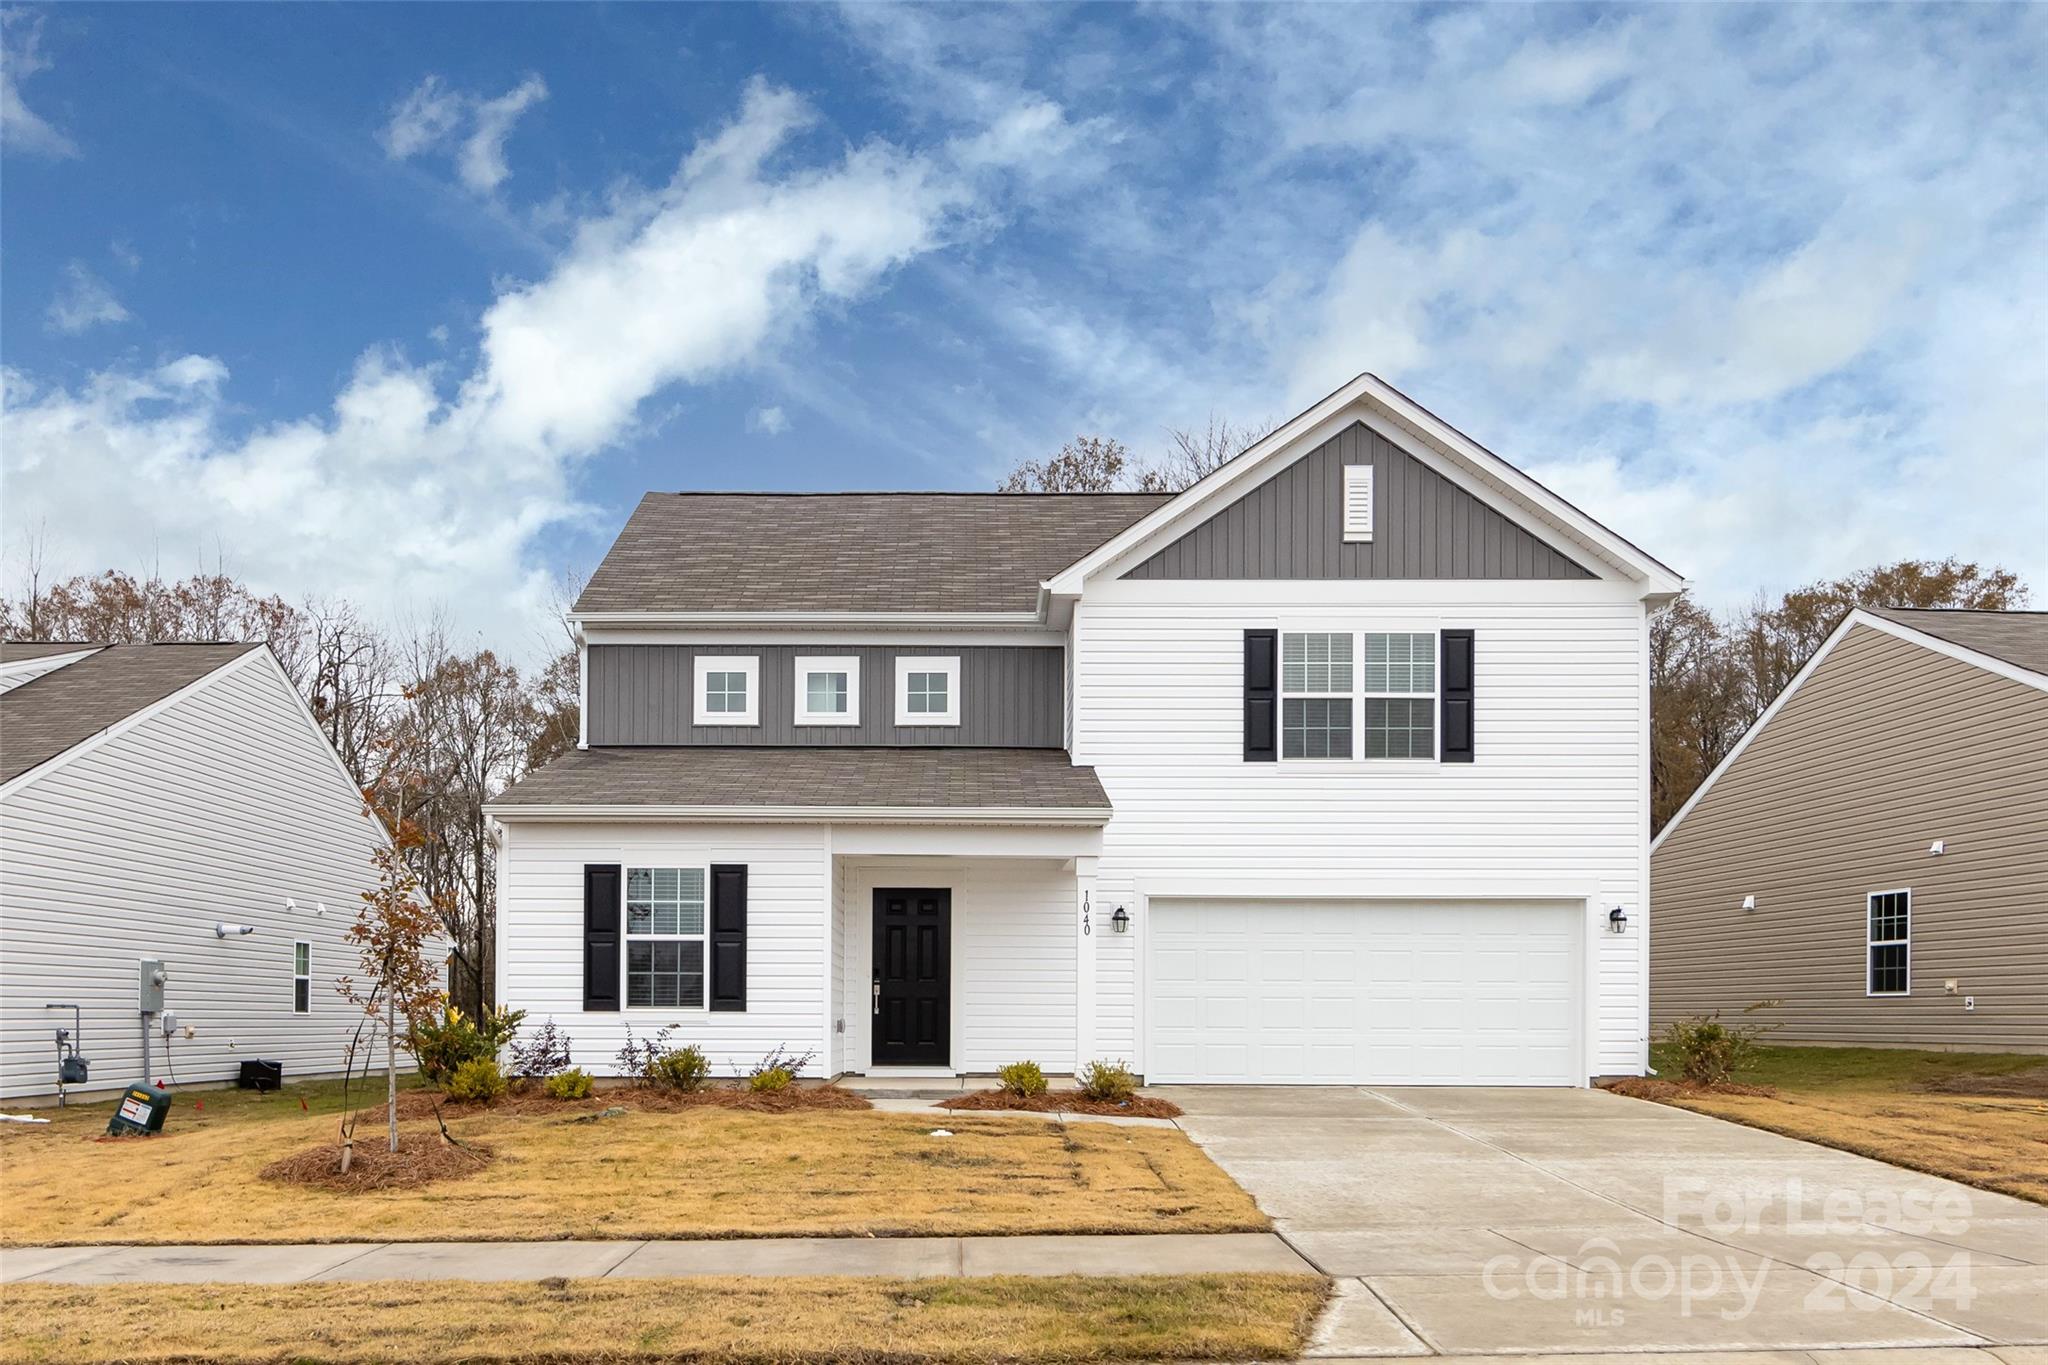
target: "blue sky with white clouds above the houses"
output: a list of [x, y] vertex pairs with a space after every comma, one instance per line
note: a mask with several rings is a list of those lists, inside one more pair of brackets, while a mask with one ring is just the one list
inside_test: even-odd
[[1716, 604], [2048, 596], [2042, 6], [6, 8], [18, 583], [537, 639], [647, 487], [1374, 370]]

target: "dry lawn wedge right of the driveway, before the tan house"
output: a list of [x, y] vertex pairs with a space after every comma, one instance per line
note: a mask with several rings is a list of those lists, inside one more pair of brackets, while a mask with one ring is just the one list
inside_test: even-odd
[[1780, 1091], [1667, 1103], [2048, 1203], [2048, 1103], [2040, 1099]]

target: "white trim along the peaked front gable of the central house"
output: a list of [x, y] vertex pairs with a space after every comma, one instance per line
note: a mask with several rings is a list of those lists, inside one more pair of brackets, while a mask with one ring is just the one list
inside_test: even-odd
[[[1509, 508], [1501, 508], [1503, 512], [1518, 518], [1534, 514], [1536, 518], [1556, 526], [1565, 536], [1583, 544], [1628, 579], [1640, 583], [1645, 596], [1671, 596], [1686, 585], [1686, 579], [1675, 571], [1614, 534], [1593, 518], [1585, 516], [1473, 438], [1442, 422], [1405, 393], [1372, 375], [1360, 375], [1307, 411], [1282, 422], [1264, 440], [1255, 442], [1235, 460], [1186, 489], [1174, 501], [1155, 508], [1151, 514], [1139, 518], [1135, 524], [1071, 563], [1047, 581], [1047, 589], [1055, 596], [1079, 596], [1090, 577], [1102, 573], [1110, 565], [1135, 559], [1141, 551], [1157, 551], [1171, 538], [1186, 534], [1202, 520], [1235, 501], [1243, 495], [1243, 491], [1278, 473], [1282, 460], [1307, 454], [1307, 450], [1313, 450], [1354, 420], [1366, 420], [1368, 426], [1380, 430], [1382, 436], [1393, 436], [1386, 430], [1386, 424], [1393, 424], [1407, 436], [1419, 438], [1419, 442], [1399, 440], [1399, 444], [1403, 450], [1421, 456], [1432, 469], [1450, 477], [1454, 483], [1489, 503], [1499, 503], [1505, 495]], [[1425, 446], [1425, 450], [1415, 450], [1417, 444]]]

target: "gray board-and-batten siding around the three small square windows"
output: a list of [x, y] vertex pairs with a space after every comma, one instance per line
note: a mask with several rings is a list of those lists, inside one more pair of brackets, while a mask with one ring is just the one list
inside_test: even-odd
[[[760, 659], [760, 724], [694, 724], [696, 655]], [[797, 724], [797, 659], [860, 659], [860, 724]], [[961, 724], [897, 724], [895, 661], [958, 657]], [[592, 645], [592, 745], [958, 745], [1059, 749], [1057, 645]]]

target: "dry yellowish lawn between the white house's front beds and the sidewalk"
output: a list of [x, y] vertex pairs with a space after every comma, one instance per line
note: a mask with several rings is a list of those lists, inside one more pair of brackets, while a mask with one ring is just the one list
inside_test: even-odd
[[[158, 1138], [94, 1140], [106, 1109], [0, 1130], [0, 1244], [354, 1242], [1006, 1232], [1251, 1232], [1270, 1224], [1176, 1130], [1044, 1119], [690, 1109], [451, 1121], [496, 1158], [420, 1189], [262, 1179], [334, 1140], [293, 1095], [178, 1103]], [[403, 1124], [432, 1142], [432, 1124]], [[358, 1142], [379, 1140], [365, 1121]]]

